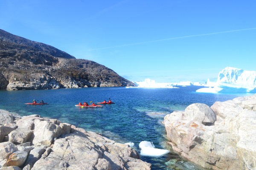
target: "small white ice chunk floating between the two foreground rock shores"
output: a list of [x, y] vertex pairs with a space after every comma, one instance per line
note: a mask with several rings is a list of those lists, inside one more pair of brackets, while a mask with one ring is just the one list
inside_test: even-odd
[[142, 156], [159, 157], [170, 152], [169, 150], [166, 150], [166, 149], [157, 149], [155, 148], [152, 142], [148, 142], [148, 141], [140, 142], [139, 147], [141, 148], [140, 155]]

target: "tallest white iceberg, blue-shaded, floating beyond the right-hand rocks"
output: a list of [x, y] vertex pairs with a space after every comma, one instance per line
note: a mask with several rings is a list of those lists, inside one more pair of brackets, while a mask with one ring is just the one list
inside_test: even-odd
[[210, 82], [196, 92], [203, 93], [256, 93], [256, 71], [226, 67], [218, 74], [217, 82]]

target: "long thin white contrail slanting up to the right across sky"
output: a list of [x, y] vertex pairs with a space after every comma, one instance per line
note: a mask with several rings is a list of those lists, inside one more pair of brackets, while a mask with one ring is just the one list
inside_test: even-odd
[[161, 39], [161, 40], [152, 40], [152, 41], [136, 42], [136, 43], [131, 43], [131, 44], [116, 45], [116, 46], [112, 46], [112, 47], [94, 48], [94, 49], [91, 49], [88, 51], [96, 51], [96, 50], [103, 50], [103, 49], [116, 48], [116, 47], [125, 47], [125, 46], [145, 44], [145, 43], [150, 43], [150, 42], [168, 41], [168, 40], [175, 40], [175, 39], [188, 38], [188, 37], [199, 37], [199, 36], [207, 36], [207, 35], [213, 35], [213, 34], [224, 34], [224, 33], [229, 33], [229, 32], [247, 31], [247, 30], [254, 30], [254, 29], [256, 29], [256, 28], [245, 28], [245, 29], [236, 29], [236, 30], [230, 30], [230, 31], [213, 32], [213, 33], [207, 33], [207, 34], [187, 35], [187, 36], [182, 36], [182, 37], [173, 37], [173, 38], [166, 38], [166, 39]]

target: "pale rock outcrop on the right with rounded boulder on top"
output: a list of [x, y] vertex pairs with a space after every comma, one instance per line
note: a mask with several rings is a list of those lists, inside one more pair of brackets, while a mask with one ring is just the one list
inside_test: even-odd
[[199, 108], [192, 104], [184, 112], [165, 116], [173, 149], [205, 168], [255, 170], [256, 95], [215, 102], [211, 108], [200, 104]]

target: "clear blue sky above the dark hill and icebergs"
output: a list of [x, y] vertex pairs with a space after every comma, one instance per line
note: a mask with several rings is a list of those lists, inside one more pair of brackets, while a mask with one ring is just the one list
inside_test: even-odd
[[256, 71], [255, 0], [0, 0], [0, 29], [131, 81]]

